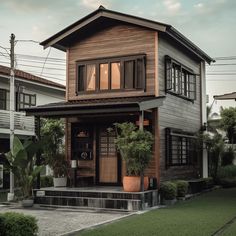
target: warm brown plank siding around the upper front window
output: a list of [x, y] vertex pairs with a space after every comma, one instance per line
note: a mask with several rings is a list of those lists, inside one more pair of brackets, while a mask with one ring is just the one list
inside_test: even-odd
[[[68, 100], [155, 94], [154, 48], [154, 31], [127, 24], [110, 26], [88, 38], [78, 39], [77, 43], [68, 50]], [[76, 96], [76, 61], [134, 54], [146, 54], [146, 93], [144, 91], [103, 92]]]

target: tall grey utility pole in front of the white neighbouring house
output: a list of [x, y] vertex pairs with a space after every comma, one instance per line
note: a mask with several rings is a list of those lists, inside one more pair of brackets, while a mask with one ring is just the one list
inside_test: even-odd
[[[13, 151], [13, 140], [14, 140], [14, 115], [15, 115], [15, 35], [11, 34], [10, 37], [10, 150]], [[8, 201], [14, 200], [14, 175], [10, 171], [10, 193], [7, 196]]]

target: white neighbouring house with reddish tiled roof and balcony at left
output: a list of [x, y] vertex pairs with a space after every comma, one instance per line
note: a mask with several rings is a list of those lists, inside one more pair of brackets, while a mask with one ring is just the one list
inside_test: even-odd
[[[0, 65], [0, 154], [10, 148], [9, 90], [10, 68]], [[35, 119], [33, 116], [26, 116], [20, 109], [65, 100], [65, 86], [21, 70], [15, 70], [15, 91], [14, 133], [21, 139], [35, 135]], [[0, 164], [2, 163], [0, 155]]]

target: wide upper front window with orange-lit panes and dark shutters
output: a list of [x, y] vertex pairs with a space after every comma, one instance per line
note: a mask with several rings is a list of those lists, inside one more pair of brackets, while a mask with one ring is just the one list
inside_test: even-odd
[[77, 62], [76, 93], [145, 89], [145, 55]]

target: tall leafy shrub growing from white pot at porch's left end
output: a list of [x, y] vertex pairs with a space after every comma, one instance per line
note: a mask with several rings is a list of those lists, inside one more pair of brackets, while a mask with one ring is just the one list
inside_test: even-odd
[[65, 160], [63, 140], [65, 127], [62, 120], [42, 120], [41, 135], [44, 140], [43, 154], [45, 164], [53, 170], [54, 177], [68, 174], [68, 162]]

